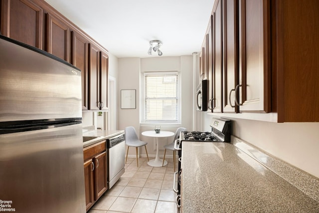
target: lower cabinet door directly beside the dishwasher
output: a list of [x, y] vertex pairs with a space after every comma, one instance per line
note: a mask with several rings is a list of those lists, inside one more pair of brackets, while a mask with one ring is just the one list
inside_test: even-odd
[[94, 157], [95, 162], [95, 200], [97, 201], [108, 189], [107, 185], [107, 154], [103, 152]]

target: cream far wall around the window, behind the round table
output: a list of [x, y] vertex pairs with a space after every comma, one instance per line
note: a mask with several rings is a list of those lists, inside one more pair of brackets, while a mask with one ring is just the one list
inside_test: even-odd
[[[150, 58], [119, 58], [118, 59], [118, 128], [124, 129], [127, 126], [134, 126], [140, 139], [148, 142], [149, 156], [155, 156], [156, 146], [152, 138], [144, 137], [141, 132], [153, 130], [155, 124], [140, 125], [141, 108], [143, 104], [143, 94], [141, 94], [141, 76], [145, 71], [180, 71], [181, 76], [181, 124], [167, 125], [161, 124], [162, 130], [175, 132], [177, 127], [182, 126], [187, 129], [192, 128], [192, 56], [178, 57], [150, 57]], [[143, 79], [143, 77], [142, 77]], [[136, 89], [136, 109], [121, 109], [121, 89]], [[142, 101], [142, 103], [141, 103]], [[163, 145], [170, 143], [171, 138], [160, 140], [160, 155], [163, 155]], [[145, 149], [140, 149], [141, 155], [145, 156]], [[167, 153], [168, 156], [171, 153]], [[129, 155], [135, 156], [135, 150], [130, 149]]]

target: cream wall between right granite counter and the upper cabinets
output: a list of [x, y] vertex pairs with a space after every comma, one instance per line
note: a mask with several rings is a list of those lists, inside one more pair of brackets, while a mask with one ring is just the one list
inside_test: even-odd
[[[203, 126], [210, 130], [212, 116]], [[232, 119], [232, 134], [319, 178], [319, 123], [273, 123]]]

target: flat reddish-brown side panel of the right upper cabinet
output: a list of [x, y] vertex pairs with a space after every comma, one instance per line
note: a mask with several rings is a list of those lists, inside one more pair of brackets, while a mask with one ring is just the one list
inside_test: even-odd
[[319, 122], [319, 1], [271, 5], [272, 107], [278, 122]]

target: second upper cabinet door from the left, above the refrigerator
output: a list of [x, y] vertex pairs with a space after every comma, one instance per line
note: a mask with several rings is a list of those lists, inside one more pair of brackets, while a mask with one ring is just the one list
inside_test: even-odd
[[69, 27], [54, 17], [46, 14], [47, 22], [47, 52], [70, 62], [70, 29]]

